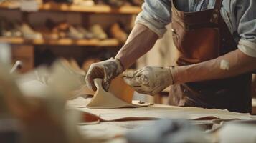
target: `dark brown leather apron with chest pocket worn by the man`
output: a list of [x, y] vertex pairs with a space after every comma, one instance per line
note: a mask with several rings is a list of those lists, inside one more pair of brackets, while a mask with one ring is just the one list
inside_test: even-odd
[[[184, 12], [172, 0], [172, 31], [174, 45], [179, 51], [177, 66], [196, 64], [215, 59], [237, 49], [220, 15], [222, 0], [214, 9]], [[171, 86], [169, 103], [184, 107], [228, 109], [232, 112], [251, 112], [251, 74], [228, 79], [193, 82]]]

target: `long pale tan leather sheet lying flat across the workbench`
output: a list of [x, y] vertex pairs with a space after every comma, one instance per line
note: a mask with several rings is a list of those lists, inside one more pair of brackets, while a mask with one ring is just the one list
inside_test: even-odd
[[[221, 109], [202, 109], [197, 107], [174, 107], [169, 105], [154, 104], [150, 107], [121, 108], [121, 109], [89, 109], [83, 106], [88, 100], [75, 99], [68, 102], [68, 106], [75, 107], [82, 112], [94, 114], [104, 121], [115, 121], [120, 119], [162, 119], [162, 118], [219, 118], [219, 119], [251, 119], [250, 114], [229, 112]], [[77, 104], [75, 104], [77, 103]], [[73, 106], [76, 105], [76, 106]], [[206, 119], [207, 119], [206, 118]]]

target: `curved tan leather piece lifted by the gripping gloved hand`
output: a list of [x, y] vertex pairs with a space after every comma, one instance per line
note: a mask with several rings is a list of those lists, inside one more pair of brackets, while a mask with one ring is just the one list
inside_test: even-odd
[[146, 107], [149, 104], [139, 104], [136, 102], [128, 103], [115, 97], [114, 94], [106, 92], [102, 87], [102, 79], [95, 79], [95, 85], [97, 91], [95, 92], [93, 99], [87, 104], [91, 109], [115, 109], [123, 107]]

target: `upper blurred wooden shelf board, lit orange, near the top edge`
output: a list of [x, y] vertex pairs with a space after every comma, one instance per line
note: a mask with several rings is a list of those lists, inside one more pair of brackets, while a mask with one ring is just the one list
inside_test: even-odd
[[[14, 4], [4, 2], [0, 4], [0, 9], [19, 9]], [[138, 6], [122, 6], [113, 8], [106, 5], [80, 6], [75, 4], [56, 4], [49, 2], [39, 6], [39, 11], [66, 11], [66, 12], [87, 12], [99, 14], [138, 14], [141, 7]]]

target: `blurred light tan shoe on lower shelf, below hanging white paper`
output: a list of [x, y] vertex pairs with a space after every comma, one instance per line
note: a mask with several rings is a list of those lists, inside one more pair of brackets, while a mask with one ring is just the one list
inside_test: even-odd
[[42, 34], [40, 34], [37, 31], [34, 31], [29, 24], [26, 23], [21, 23], [15, 24], [16, 29], [22, 32], [22, 35], [24, 36], [25, 39], [42, 39]]

